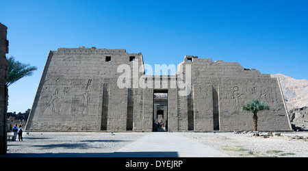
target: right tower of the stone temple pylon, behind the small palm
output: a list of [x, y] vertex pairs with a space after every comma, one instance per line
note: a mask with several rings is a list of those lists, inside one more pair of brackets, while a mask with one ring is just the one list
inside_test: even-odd
[[194, 131], [213, 131], [214, 127], [220, 131], [252, 130], [253, 114], [240, 108], [253, 99], [271, 108], [258, 114], [260, 131], [290, 130], [277, 79], [243, 68], [237, 62], [194, 58], [185, 64], [192, 64]]

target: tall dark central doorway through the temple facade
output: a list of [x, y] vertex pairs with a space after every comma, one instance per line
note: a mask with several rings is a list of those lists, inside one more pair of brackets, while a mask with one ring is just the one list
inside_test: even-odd
[[168, 90], [154, 90], [153, 131], [168, 131]]

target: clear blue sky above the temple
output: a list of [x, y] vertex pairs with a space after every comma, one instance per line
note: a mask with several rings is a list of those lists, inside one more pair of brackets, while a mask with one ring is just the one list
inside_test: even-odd
[[2, 1], [9, 57], [37, 66], [9, 87], [8, 111], [31, 108], [49, 51], [97, 47], [141, 52], [144, 63], [185, 55], [308, 79], [307, 0]]

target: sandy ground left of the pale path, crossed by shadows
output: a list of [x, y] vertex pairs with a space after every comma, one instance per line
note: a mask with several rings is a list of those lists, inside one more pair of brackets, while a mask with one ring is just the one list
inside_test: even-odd
[[7, 153], [113, 153], [146, 133], [30, 132], [8, 142]]

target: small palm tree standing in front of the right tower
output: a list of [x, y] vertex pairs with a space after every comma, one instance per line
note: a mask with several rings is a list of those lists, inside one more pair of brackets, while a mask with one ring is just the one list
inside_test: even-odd
[[241, 108], [241, 111], [252, 111], [253, 112], [253, 131], [257, 131], [257, 127], [258, 127], [257, 113], [259, 111], [264, 111], [264, 110], [270, 110], [270, 106], [258, 100], [253, 100], [251, 103], [248, 103], [247, 105], [244, 105]]

